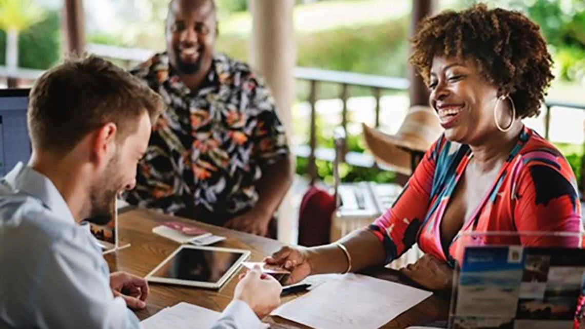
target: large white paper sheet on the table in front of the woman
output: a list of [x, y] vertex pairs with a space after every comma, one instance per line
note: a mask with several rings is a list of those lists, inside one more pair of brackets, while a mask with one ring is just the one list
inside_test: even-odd
[[377, 329], [431, 295], [398, 283], [347, 274], [278, 307], [271, 315], [318, 329]]

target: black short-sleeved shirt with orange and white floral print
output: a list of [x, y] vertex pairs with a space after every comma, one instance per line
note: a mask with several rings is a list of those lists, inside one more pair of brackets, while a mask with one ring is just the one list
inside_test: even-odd
[[131, 71], [168, 108], [154, 123], [130, 204], [221, 225], [256, 204], [262, 169], [288, 155], [269, 89], [247, 66], [215, 54], [197, 91], [160, 53]]

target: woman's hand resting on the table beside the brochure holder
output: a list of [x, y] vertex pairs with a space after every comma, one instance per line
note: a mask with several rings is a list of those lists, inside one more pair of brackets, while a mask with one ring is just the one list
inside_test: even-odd
[[425, 254], [400, 272], [412, 281], [430, 290], [449, 290], [453, 285], [453, 269], [447, 263]]

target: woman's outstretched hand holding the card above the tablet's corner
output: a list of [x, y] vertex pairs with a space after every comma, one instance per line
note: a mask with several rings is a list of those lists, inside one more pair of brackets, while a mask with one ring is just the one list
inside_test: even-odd
[[264, 262], [290, 270], [291, 274], [283, 282], [284, 285], [292, 285], [311, 275], [312, 269], [307, 248], [285, 246], [271, 256], [264, 258]]

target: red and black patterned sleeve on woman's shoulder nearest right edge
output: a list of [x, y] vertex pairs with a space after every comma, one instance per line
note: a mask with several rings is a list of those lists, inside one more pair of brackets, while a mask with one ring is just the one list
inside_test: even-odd
[[[581, 205], [574, 174], [568, 163], [541, 152], [541, 158], [524, 159], [517, 189], [512, 195], [514, 226], [517, 231], [583, 231]], [[549, 159], [547, 159], [547, 157]], [[525, 246], [578, 246], [579, 239], [523, 236]]]

